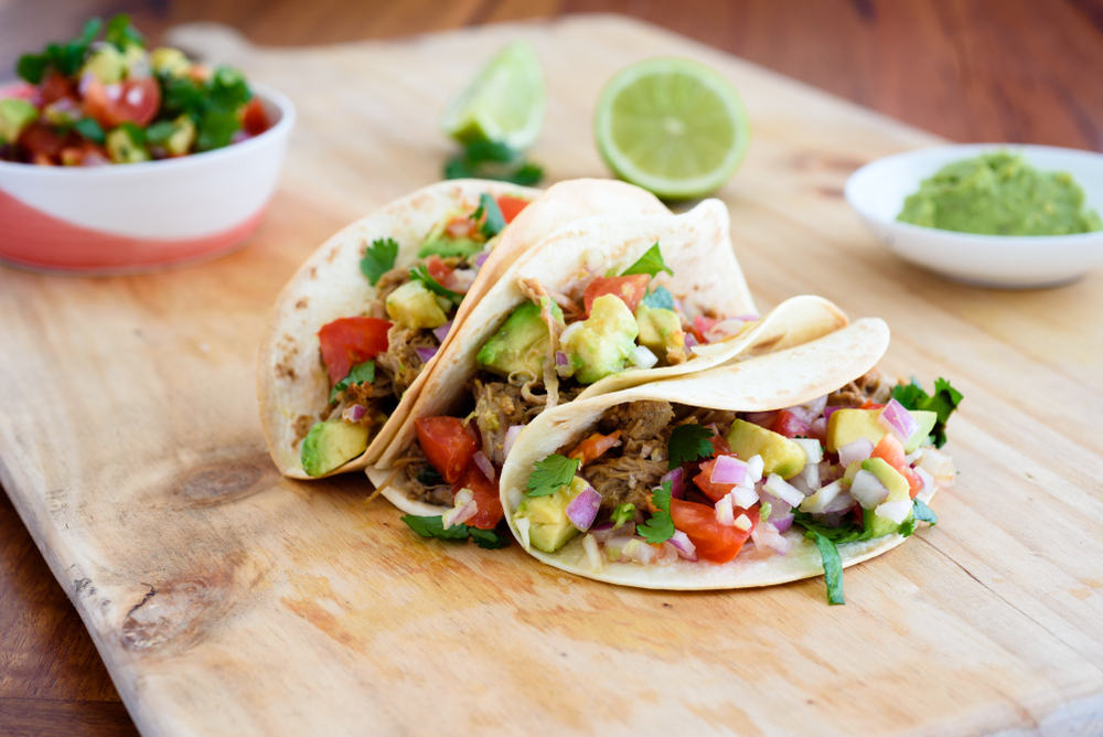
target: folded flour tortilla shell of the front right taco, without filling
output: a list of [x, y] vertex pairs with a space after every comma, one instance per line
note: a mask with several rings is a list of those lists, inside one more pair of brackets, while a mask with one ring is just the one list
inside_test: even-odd
[[[502, 506], [511, 519], [524, 498], [533, 463], [592, 432], [610, 407], [644, 399], [735, 412], [767, 412], [802, 404], [828, 394], [872, 368], [885, 354], [889, 330], [882, 320], [867, 318], [803, 345], [737, 361], [728, 365], [572, 402], [543, 413], [521, 434], [502, 469]], [[793, 548], [784, 556], [762, 554], [746, 546], [725, 564], [679, 559], [670, 565], [609, 563], [593, 572], [577, 535], [555, 553], [528, 552], [556, 568], [597, 580], [639, 588], [700, 590], [772, 586], [823, 574], [820, 552], [803, 532], [785, 534]], [[880, 555], [903, 542], [900, 535], [838, 546], [844, 566]]]

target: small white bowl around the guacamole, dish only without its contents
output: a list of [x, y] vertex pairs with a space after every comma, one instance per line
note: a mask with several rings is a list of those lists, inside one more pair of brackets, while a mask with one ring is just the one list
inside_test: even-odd
[[1103, 213], [1103, 154], [1050, 146], [971, 143], [897, 153], [852, 174], [846, 200], [893, 253], [959, 281], [1003, 288], [1049, 287], [1103, 266], [1103, 231], [979, 235], [897, 220], [904, 200], [943, 167], [994, 152], [1022, 154], [1040, 172], [1068, 172], [1083, 190], [1085, 206]]

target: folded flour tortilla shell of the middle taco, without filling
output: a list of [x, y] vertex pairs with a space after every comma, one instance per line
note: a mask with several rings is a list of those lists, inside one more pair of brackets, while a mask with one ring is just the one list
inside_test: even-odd
[[[472, 310], [433, 366], [425, 389], [406, 417], [392, 445], [367, 476], [396, 506], [410, 514], [438, 515], [448, 508], [416, 501], [409, 480], [393, 464], [417, 438], [419, 417], [453, 415], [469, 399], [467, 386], [478, 373], [479, 349], [497, 332], [513, 310], [527, 301], [518, 284], [534, 278], [544, 287], [572, 292], [595, 271], [620, 274], [652, 245], [660, 244], [674, 271], [654, 281], [675, 298], [692, 301], [720, 314], [757, 313], [742, 270], [731, 248], [728, 211], [717, 200], [706, 200], [688, 213], [667, 216], [591, 217], [559, 228], [517, 259]], [[617, 391], [654, 378], [685, 375], [718, 366], [749, 350], [779, 350], [837, 330], [846, 316], [827, 300], [801, 297], [790, 300], [753, 329], [722, 343], [704, 346], [699, 357], [677, 366], [636, 370], [597, 382], [582, 396]], [[522, 430], [523, 437], [528, 429]]]

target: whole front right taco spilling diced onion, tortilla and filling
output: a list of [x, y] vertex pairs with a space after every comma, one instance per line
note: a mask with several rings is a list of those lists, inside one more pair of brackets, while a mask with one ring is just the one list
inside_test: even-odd
[[[864, 319], [803, 345], [557, 407], [502, 469], [514, 535], [544, 563], [656, 589], [768, 586], [904, 541], [954, 480], [935, 448], [961, 395], [893, 386]], [[751, 542], [747, 545], [748, 541]]]

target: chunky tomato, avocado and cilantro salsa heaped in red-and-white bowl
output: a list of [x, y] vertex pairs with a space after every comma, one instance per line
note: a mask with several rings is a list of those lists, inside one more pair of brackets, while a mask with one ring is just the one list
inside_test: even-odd
[[0, 90], [0, 159], [97, 167], [212, 151], [271, 122], [237, 70], [170, 47], [149, 52], [125, 14], [23, 54], [22, 84]]

